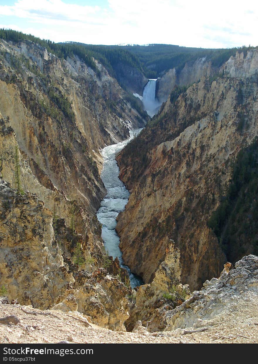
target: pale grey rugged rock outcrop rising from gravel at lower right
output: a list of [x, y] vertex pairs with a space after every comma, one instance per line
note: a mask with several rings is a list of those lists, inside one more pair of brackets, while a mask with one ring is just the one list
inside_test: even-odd
[[252, 302], [258, 294], [258, 257], [245, 256], [230, 268], [225, 265], [219, 278], [206, 281], [200, 291], [167, 312], [165, 330], [208, 326], [216, 315], [239, 309], [239, 302]]

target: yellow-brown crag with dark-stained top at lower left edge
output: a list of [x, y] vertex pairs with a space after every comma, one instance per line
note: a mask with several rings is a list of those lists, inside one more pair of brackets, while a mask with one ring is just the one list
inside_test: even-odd
[[36, 195], [16, 194], [1, 179], [1, 284], [23, 304], [48, 308], [73, 275], [55, 241], [52, 213]]

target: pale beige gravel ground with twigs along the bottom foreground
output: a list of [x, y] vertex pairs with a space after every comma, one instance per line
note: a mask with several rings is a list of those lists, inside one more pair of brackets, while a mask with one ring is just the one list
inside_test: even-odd
[[[26, 312], [24, 312], [25, 310]], [[232, 311], [232, 310], [231, 310]], [[223, 310], [203, 321], [202, 332], [185, 333], [184, 329], [157, 333], [113, 332], [88, 324], [78, 312], [38, 310], [32, 306], [0, 304], [0, 319], [15, 315], [20, 323], [0, 324], [0, 343], [258, 343], [258, 297], [252, 302], [238, 302], [234, 312]], [[79, 321], [83, 320], [85, 322]]]

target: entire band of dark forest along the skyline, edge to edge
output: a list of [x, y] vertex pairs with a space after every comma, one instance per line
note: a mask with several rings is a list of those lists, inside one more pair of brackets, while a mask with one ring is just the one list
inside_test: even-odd
[[61, 59], [77, 55], [87, 66], [90, 66], [99, 74], [99, 68], [94, 62], [94, 59], [97, 59], [113, 77], [117, 76], [117, 69], [121, 64], [137, 69], [146, 78], [161, 77], [164, 72], [174, 67], [177, 71], [180, 71], [186, 62], [194, 62], [203, 57], [210, 60], [213, 66], [220, 67], [230, 56], [234, 56], [236, 51], [246, 53], [247, 50], [255, 48], [243, 46], [226, 49], [205, 49], [180, 47], [171, 44], [105, 46], [77, 42], [55, 43], [49, 39], [40, 39], [31, 34], [24, 34], [11, 29], [0, 29], [0, 38], [14, 42], [29, 40], [38, 43], [46, 47], [48, 52]]

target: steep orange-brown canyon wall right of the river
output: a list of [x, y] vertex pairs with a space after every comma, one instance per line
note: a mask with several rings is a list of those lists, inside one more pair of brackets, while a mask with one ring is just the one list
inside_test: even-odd
[[[118, 155], [130, 190], [118, 215], [123, 259], [151, 282], [169, 239], [190, 289], [218, 277], [226, 256], [207, 225], [227, 193], [231, 163], [257, 135], [258, 51], [237, 52], [214, 81], [171, 92], [159, 114]], [[243, 255], [245, 252], [243, 252]]]

